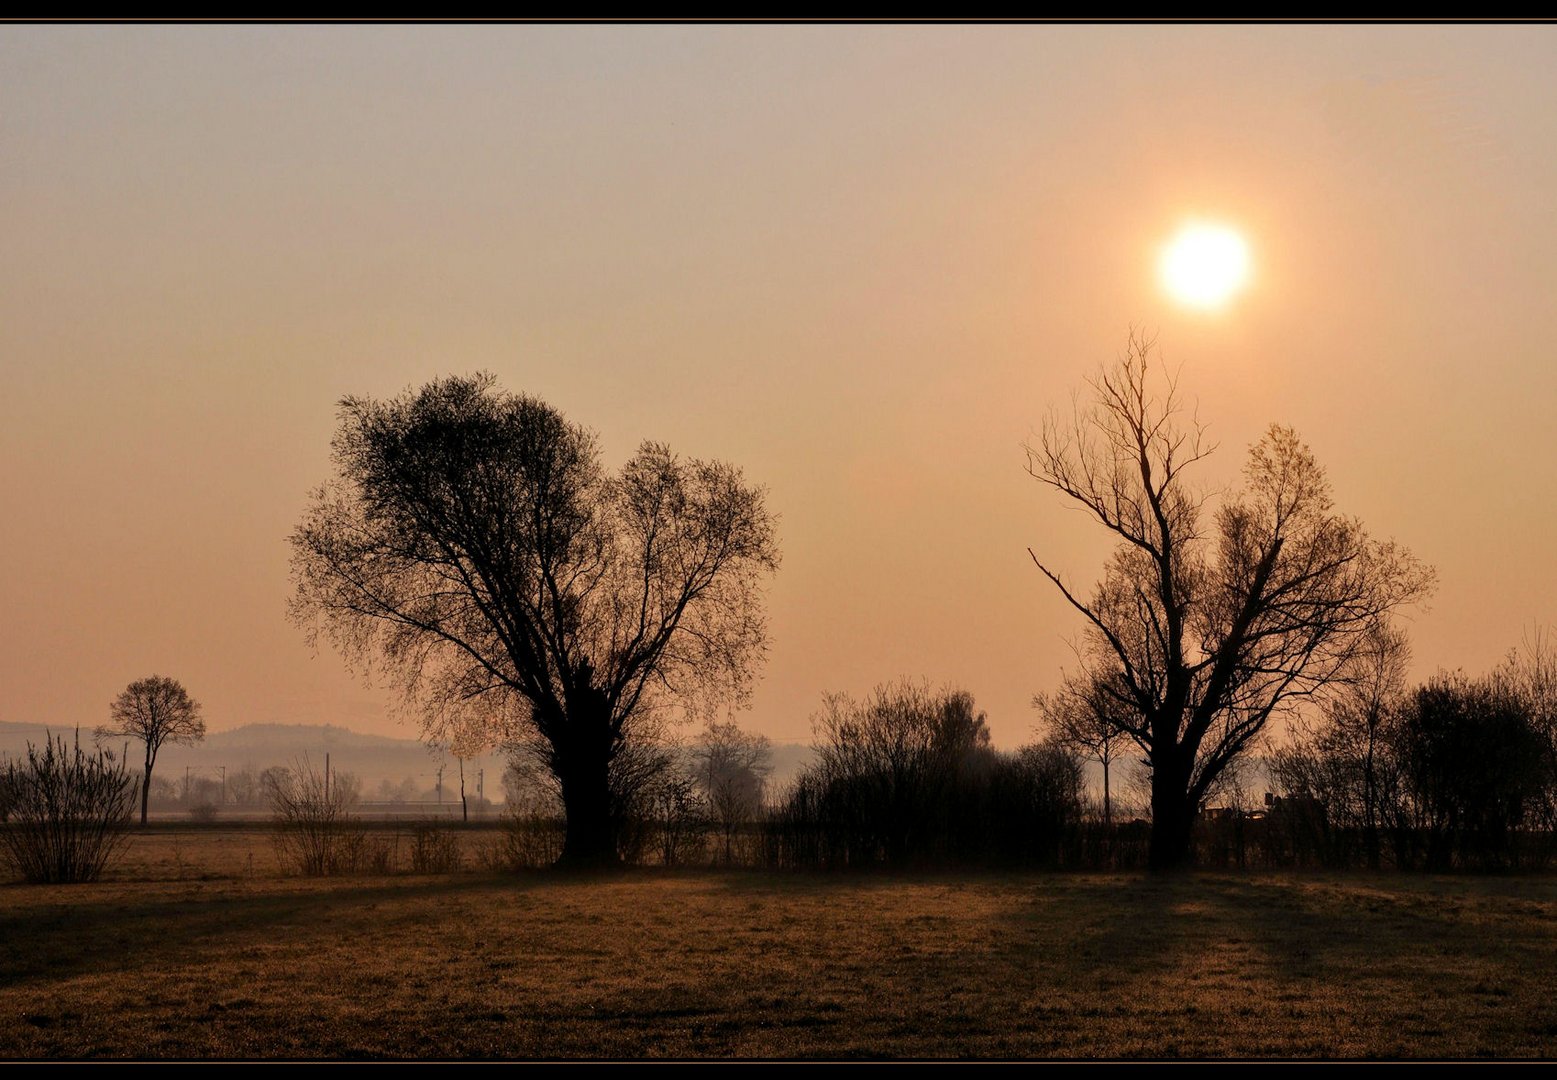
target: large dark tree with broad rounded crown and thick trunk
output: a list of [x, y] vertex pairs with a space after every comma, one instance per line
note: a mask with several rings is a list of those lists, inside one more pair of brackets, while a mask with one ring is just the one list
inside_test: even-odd
[[333, 447], [291, 537], [294, 618], [381, 663], [430, 736], [536, 749], [562, 862], [617, 861], [632, 745], [749, 691], [778, 563], [763, 490], [652, 442], [609, 475], [589, 431], [490, 375], [344, 398]]

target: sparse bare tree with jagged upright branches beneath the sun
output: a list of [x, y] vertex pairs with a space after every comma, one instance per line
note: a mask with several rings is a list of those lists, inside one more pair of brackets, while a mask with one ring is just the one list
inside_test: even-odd
[[1028, 472], [1118, 542], [1090, 599], [1032, 560], [1087, 619], [1088, 674], [1146, 752], [1149, 859], [1169, 868], [1188, 857], [1222, 770], [1272, 716], [1334, 682], [1380, 618], [1426, 596], [1432, 573], [1336, 514], [1313, 453], [1278, 425], [1250, 448], [1244, 489], [1205, 521], [1208, 496], [1185, 470], [1213, 447], [1200, 423], [1180, 423], [1152, 345], [1130, 335], [1119, 363], [1091, 380], [1091, 403], [1049, 417]]

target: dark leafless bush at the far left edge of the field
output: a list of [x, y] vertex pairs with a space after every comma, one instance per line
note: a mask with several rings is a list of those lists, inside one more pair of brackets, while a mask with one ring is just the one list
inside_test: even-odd
[[128, 839], [135, 787], [112, 750], [48, 738], [0, 770], [0, 851], [31, 882], [97, 881]]

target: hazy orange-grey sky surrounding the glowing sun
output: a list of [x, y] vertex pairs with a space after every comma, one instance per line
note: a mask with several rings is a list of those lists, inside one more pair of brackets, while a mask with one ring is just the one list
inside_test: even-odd
[[[489, 369], [782, 515], [743, 724], [1029, 736], [1109, 545], [1023, 442], [1158, 333], [1434, 563], [1418, 674], [1557, 621], [1557, 26], [0, 26], [0, 721], [174, 675], [411, 733], [285, 619], [341, 395]], [[1190, 216], [1253, 286], [1155, 279]]]

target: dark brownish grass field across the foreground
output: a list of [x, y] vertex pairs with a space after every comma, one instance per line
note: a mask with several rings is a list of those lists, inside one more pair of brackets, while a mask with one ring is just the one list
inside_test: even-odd
[[1551, 878], [302, 881], [262, 856], [168, 833], [117, 881], [0, 887], [0, 1055], [1557, 1052]]

